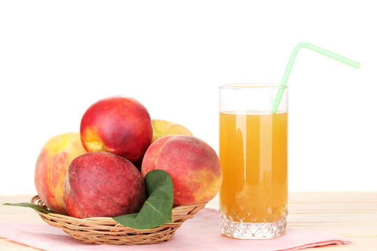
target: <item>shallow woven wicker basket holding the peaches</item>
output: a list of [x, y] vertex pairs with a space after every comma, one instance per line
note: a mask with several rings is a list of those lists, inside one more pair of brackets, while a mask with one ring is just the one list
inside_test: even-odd
[[[31, 203], [45, 206], [38, 195]], [[36, 212], [47, 224], [63, 229], [77, 241], [87, 244], [145, 245], [168, 241], [185, 220], [193, 218], [206, 203], [177, 206], [172, 209], [173, 222], [153, 229], [133, 229], [124, 227], [108, 217], [78, 219], [57, 213]]]

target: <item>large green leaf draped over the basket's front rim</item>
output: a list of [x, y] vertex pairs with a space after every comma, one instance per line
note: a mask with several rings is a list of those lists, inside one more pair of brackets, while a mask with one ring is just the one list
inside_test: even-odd
[[160, 169], [145, 176], [148, 199], [139, 213], [114, 217], [116, 222], [134, 229], [151, 229], [172, 222], [174, 190], [170, 175]]

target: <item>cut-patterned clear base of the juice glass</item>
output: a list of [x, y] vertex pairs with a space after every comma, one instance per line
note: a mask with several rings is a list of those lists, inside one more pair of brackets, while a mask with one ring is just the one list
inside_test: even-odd
[[282, 236], [286, 233], [288, 211], [281, 215], [279, 220], [265, 219], [265, 222], [242, 222], [226, 214], [220, 208], [221, 234], [239, 239], [270, 239]]

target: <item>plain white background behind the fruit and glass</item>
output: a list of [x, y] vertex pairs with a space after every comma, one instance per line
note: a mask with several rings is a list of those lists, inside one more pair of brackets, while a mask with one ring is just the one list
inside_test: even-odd
[[34, 194], [47, 139], [115, 94], [216, 151], [218, 89], [289, 79], [289, 189], [377, 190], [374, 1], [1, 1], [0, 194]]

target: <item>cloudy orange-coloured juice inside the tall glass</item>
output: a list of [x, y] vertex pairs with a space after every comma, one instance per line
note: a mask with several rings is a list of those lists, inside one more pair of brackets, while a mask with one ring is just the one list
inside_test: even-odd
[[288, 114], [220, 113], [220, 210], [232, 222], [285, 220]]

